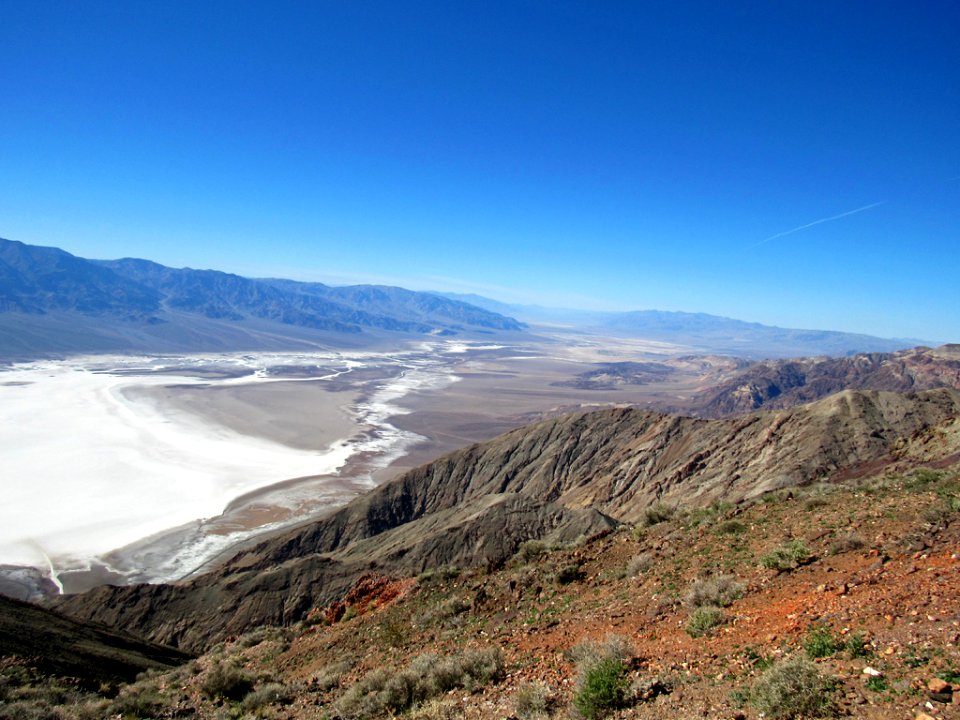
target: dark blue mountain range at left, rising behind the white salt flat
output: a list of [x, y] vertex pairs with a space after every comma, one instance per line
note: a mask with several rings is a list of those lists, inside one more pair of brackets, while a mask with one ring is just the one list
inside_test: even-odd
[[304, 349], [375, 342], [383, 333], [522, 329], [512, 318], [402, 288], [331, 288], [148, 260], [86, 260], [0, 239], [0, 357]]

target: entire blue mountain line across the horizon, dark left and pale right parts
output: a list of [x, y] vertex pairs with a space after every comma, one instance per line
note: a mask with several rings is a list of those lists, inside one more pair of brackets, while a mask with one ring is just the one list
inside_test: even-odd
[[704, 313], [598, 313], [379, 285], [252, 279], [149, 260], [87, 260], [0, 239], [0, 358], [6, 360], [395, 346], [398, 339], [424, 335], [534, 339], [531, 330], [600, 340], [641, 338], [687, 352], [753, 359], [890, 352], [923, 344]]

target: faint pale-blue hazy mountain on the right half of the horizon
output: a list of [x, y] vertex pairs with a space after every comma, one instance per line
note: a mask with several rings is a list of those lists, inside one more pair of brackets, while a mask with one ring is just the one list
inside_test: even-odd
[[844, 356], [859, 352], [893, 352], [916, 345], [936, 345], [916, 338], [879, 338], [833, 330], [797, 330], [706, 313], [637, 310], [594, 312], [539, 305], [510, 305], [480, 295], [446, 293], [531, 324], [567, 325], [597, 334], [614, 334], [685, 345], [693, 351], [746, 358]]

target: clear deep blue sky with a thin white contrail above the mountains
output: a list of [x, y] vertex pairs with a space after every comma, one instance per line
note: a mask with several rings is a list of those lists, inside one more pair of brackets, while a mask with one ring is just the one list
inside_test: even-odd
[[953, 0], [0, 0], [0, 236], [960, 341], [958, 38]]

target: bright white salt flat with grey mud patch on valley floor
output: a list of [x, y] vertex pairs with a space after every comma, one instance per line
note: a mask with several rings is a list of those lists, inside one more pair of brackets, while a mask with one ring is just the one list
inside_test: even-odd
[[[325, 389], [377, 365], [385, 377], [368, 379], [363, 397]], [[295, 367], [298, 377], [284, 377], [278, 367]], [[58, 575], [218, 516], [235, 498], [290, 478], [328, 477], [337, 488], [349, 458], [376, 456], [382, 466], [421, 439], [387, 422], [406, 412], [396, 400], [455, 379], [442, 362], [413, 353], [15, 365], [0, 373], [0, 563], [46, 566]], [[267, 383], [273, 392], [258, 395]], [[177, 550], [199, 564], [269, 525], [232, 533], [220, 527], [215, 537], [193, 532], [193, 547]], [[191, 569], [160, 564], [167, 570], [144, 575], [137, 568], [137, 579], [171, 579], [169, 573]]]

